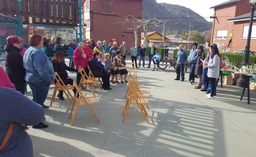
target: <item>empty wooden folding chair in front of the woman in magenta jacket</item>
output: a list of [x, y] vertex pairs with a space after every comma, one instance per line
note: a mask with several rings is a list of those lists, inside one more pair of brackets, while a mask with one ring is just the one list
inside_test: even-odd
[[92, 84], [93, 83], [97, 83], [96, 80], [89, 79], [88, 75], [85, 72], [85, 69], [83, 69], [83, 68], [79, 69], [78, 73], [80, 73], [82, 75], [78, 87], [81, 88], [82, 84], [85, 84], [86, 85], [85, 89], [88, 86], [88, 88], [90, 89], [91, 93], [95, 96], [94, 92], [97, 93], [97, 91], [96, 91], [96, 89], [94, 88], [94, 86]]

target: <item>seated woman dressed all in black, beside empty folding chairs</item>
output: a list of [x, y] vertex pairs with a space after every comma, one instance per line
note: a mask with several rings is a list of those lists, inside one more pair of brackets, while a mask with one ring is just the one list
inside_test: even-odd
[[100, 58], [100, 53], [99, 52], [94, 52], [93, 57], [91, 58], [91, 61], [89, 63], [89, 66], [91, 68], [91, 72], [94, 74], [95, 77], [101, 77], [102, 78], [102, 88], [105, 90], [111, 90], [110, 88], [110, 75], [108, 72], [105, 72], [104, 65], [101, 64], [101, 61], [98, 59]]

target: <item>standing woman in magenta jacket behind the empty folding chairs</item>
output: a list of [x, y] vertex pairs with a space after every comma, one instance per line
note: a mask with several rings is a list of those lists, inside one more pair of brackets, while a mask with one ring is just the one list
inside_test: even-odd
[[[88, 61], [85, 55], [85, 52], [83, 50], [84, 43], [79, 42], [78, 47], [75, 49], [73, 53], [73, 62], [75, 64], [75, 69], [85, 69], [85, 72], [88, 74], [89, 70], [86, 68], [88, 65]], [[76, 75], [76, 83], [79, 85], [82, 75], [80, 73], [77, 73]]]

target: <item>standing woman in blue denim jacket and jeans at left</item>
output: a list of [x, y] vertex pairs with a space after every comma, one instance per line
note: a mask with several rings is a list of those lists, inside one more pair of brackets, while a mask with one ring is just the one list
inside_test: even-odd
[[[48, 95], [49, 86], [54, 80], [53, 64], [50, 62], [46, 54], [41, 50], [43, 47], [43, 39], [39, 34], [32, 34], [28, 38], [30, 48], [27, 49], [23, 64], [26, 69], [25, 80], [30, 86], [33, 94], [33, 101], [48, 108], [43, 103]], [[47, 128], [48, 125], [42, 122], [32, 126], [33, 128]]]

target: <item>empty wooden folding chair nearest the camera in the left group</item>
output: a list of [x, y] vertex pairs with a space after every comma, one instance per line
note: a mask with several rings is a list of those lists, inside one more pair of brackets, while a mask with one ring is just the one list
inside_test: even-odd
[[[87, 105], [88, 106], [89, 110], [91, 111], [92, 115], [96, 119], [97, 123], [99, 123], [100, 121], [98, 120], [98, 117], [96, 116], [96, 114], [94, 113], [94, 111], [92, 110], [90, 105], [99, 103], [100, 101], [98, 101], [95, 96], [94, 97], [85, 97], [83, 95], [81, 89], [76, 84], [76, 82], [74, 82], [74, 87], [77, 90], [77, 92], [75, 93], [75, 101], [77, 102], [77, 104], [75, 106], [75, 103], [73, 103], [71, 111], [69, 113], [69, 118], [71, 118], [71, 116], [73, 115], [70, 125], [73, 126], [73, 123], [75, 122], [75, 115], [78, 111], [79, 106], [82, 106], [82, 105]], [[78, 93], [79, 93], [79, 96], [78, 96]], [[75, 106], [75, 112], [73, 113], [74, 106]]]

